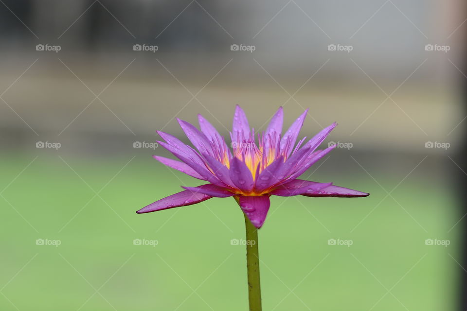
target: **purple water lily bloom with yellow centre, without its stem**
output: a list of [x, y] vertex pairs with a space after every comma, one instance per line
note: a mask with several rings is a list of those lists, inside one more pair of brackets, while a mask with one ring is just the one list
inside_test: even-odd
[[307, 142], [303, 138], [295, 144], [307, 112], [308, 109], [281, 135], [284, 112], [280, 107], [266, 131], [258, 134], [256, 143], [245, 112], [237, 105], [230, 133], [232, 151], [214, 126], [201, 115], [198, 115], [200, 131], [192, 124], [177, 119], [196, 150], [178, 138], [158, 131], [165, 140], [158, 142], [181, 162], [157, 155], [154, 158], [209, 183], [198, 187], [182, 187], [186, 190], [143, 207], [137, 213], [193, 205], [213, 197], [233, 196], [251, 224], [260, 228], [266, 219], [271, 195], [368, 196], [368, 193], [334, 186], [332, 183], [297, 179], [335, 147], [333, 145], [316, 150], [337, 123], [324, 128]]

